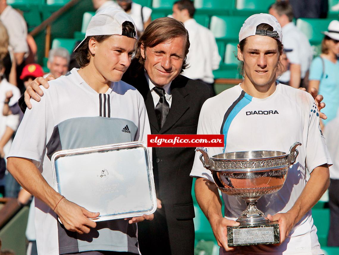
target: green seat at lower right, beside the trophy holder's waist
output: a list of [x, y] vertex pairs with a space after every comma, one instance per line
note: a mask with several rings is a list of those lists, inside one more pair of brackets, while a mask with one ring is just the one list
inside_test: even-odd
[[326, 246], [328, 229], [330, 229], [330, 209], [312, 209], [314, 225], [317, 227], [317, 235], [320, 246]]

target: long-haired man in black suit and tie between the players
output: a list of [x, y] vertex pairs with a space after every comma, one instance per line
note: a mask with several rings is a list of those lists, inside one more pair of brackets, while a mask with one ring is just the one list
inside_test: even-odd
[[[189, 46], [188, 32], [181, 22], [157, 19], [140, 37], [135, 58], [122, 78], [143, 96], [152, 134], [197, 133], [200, 109], [212, 91], [180, 75], [188, 65]], [[39, 81], [44, 84], [42, 80], [35, 84]], [[39, 93], [38, 87], [32, 87]], [[31, 96], [35, 99], [37, 95]], [[29, 100], [27, 105], [30, 107]], [[153, 148], [154, 181], [162, 208], [155, 212], [153, 221], [138, 223], [143, 255], [194, 254], [190, 177], [194, 154], [194, 148]]]

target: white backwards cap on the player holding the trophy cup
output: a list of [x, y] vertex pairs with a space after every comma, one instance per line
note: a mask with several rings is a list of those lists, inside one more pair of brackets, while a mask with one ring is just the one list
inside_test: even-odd
[[[257, 26], [261, 23], [272, 26], [273, 31], [257, 30]], [[282, 30], [279, 22], [274, 16], [267, 13], [254, 14], [245, 20], [245, 23], [240, 28], [239, 42], [249, 36], [255, 35], [269, 36], [279, 40], [280, 42], [282, 41]]]

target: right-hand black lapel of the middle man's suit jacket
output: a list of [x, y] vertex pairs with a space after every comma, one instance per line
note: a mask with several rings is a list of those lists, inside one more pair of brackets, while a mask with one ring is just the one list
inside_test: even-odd
[[184, 84], [180, 83], [180, 76], [175, 78], [171, 84], [171, 108], [169, 109], [169, 113], [160, 133], [164, 133], [170, 129], [189, 108], [188, 103], [185, 101], [185, 97], [188, 95], [188, 92], [183, 85]]

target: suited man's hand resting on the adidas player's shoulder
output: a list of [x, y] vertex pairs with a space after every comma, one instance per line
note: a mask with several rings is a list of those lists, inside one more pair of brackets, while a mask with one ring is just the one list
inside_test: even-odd
[[28, 109], [32, 109], [32, 104], [30, 102], [31, 98], [33, 98], [37, 102], [40, 101], [40, 97], [43, 96], [43, 91], [39, 86], [42, 85], [44, 88], [48, 89], [49, 80], [54, 80], [54, 76], [50, 74], [46, 78], [37, 77], [28, 84], [26, 91], [24, 93], [25, 103]]

